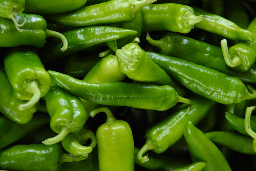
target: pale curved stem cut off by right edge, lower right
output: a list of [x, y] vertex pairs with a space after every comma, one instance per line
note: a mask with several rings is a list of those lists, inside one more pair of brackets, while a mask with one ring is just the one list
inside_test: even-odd
[[256, 133], [251, 128], [251, 115], [256, 106], [251, 106], [246, 108], [245, 118], [244, 118], [244, 129], [247, 134], [253, 138], [253, 150], [256, 152]]

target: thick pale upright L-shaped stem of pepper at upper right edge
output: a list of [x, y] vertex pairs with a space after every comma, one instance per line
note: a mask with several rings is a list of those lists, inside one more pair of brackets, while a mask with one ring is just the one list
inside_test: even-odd
[[228, 53], [227, 40], [225, 38], [221, 40], [221, 49], [222, 49], [224, 60], [228, 66], [236, 67], [241, 65], [241, 59], [239, 57], [234, 57], [233, 59], [230, 58], [230, 55]]

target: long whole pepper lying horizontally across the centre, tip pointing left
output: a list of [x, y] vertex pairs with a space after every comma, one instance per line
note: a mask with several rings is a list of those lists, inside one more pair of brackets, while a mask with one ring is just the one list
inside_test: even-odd
[[177, 95], [176, 91], [168, 85], [156, 86], [128, 82], [89, 83], [55, 71], [48, 71], [48, 73], [63, 89], [101, 105], [162, 111], [173, 107], [178, 102], [191, 104], [189, 99]]

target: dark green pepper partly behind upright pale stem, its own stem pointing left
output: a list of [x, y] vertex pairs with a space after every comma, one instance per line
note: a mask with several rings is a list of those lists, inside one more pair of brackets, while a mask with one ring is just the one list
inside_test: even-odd
[[146, 40], [151, 45], [159, 48], [159, 52], [163, 55], [203, 65], [227, 75], [235, 76], [244, 82], [254, 83], [256, 81], [254, 69], [244, 73], [234, 71], [225, 63], [221, 48], [211, 44], [177, 33], [167, 33], [160, 40], [153, 40], [147, 34]]

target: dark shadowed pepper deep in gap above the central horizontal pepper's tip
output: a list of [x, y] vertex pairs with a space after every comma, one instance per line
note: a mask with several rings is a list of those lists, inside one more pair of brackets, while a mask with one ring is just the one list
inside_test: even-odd
[[100, 59], [98, 53], [73, 53], [65, 61], [64, 73], [71, 77], [84, 77]]

